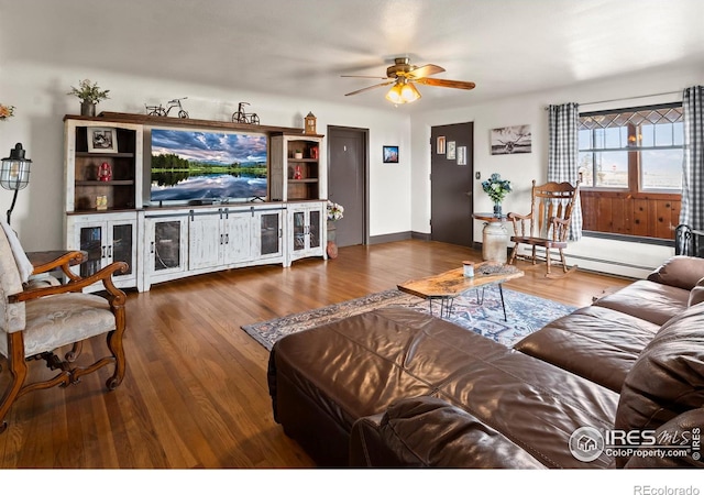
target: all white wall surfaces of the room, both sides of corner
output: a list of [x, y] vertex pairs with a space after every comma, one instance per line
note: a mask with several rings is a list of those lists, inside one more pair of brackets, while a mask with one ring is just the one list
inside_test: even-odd
[[[263, 124], [302, 127], [302, 117], [312, 111], [318, 117], [318, 132], [328, 125], [370, 130], [370, 234], [384, 235], [415, 231], [429, 233], [430, 219], [430, 128], [460, 122], [474, 122], [474, 169], [482, 179], [497, 172], [512, 180], [515, 191], [505, 200], [506, 211], [524, 210], [529, 204], [532, 178], [547, 174], [547, 114], [551, 103], [576, 101], [582, 110], [598, 110], [631, 105], [648, 105], [679, 98], [683, 88], [702, 84], [704, 68], [689, 72], [650, 70], [600, 84], [575, 86], [558, 91], [517, 96], [442, 111], [428, 111], [409, 118], [405, 112], [385, 106], [378, 110], [353, 105], [331, 105], [278, 98], [270, 95], [180, 84], [161, 79], [130, 77], [123, 74], [99, 73], [85, 67], [52, 65], [2, 65], [0, 72], [0, 102], [14, 105], [15, 117], [0, 122], [0, 153], [7, 156], [14, 143], [21, 142], [33, 160], [30, 186], [20, 191], [12, 216], [12, 227], [29, 251], [63, 246], [63, 117], [78, 112], [78, 100], [67, 96], [70, 86], [90, 78], [105, 89], [110, 99], [98, 110], [143, 113], [144, 105], [166, 102], [187, 96], [186, 109], [195, 119], [229, 121], [238, 101], [249, 101], [249, 111], [256, 112]], [[476, 81], [481, 85], [481, 80]], [[650, 95], [660, 95], [641, 98]], [[586, 105], [603, 102], [596, 105]], [[490, 154], [490, 131], [506, 125], [530, 124], [532, 153], [521, 155]], [[382, 146], [398, 145], [399, 164], [382, 163]], [[323, 161], [327, 157], [323, 156]], [[481, 180], [474, 183], [474, 210], [491, 209]], [[413, 200], [411, 200], [413, 199]], [[10, 207], [12, 193], [0, 189], [0, 212]], [[474, 239], [481, 241], [482, 224], [468, 220]], [[628, 276], [647, 273], [672, 254], [671, 249], [602, 240], [581, 241], [568, 252], [584, 257], [602, 257], [617, 264], [612, 266], [580, 260], [580, 265]], [[635, 255], [634, 255], [635, 253]], [[638, 267], [641, 268], [638, 268]]]

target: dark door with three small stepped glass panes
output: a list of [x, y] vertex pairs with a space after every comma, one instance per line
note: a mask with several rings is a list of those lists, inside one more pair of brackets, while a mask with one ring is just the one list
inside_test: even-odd
[[430, 131], [430, 237], [472, 246], [474, 124], [433, 127]]

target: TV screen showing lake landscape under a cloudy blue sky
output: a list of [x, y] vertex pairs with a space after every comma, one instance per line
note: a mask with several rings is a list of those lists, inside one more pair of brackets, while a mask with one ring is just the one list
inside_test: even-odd
[[266, 198], [266, 136], [152, 130], [152, 201]]

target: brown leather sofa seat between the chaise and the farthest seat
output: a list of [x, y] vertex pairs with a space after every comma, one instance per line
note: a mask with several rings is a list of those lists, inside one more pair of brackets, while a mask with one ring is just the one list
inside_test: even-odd
[[548, 323], [514, 349], [620, 392], [658, 330], [659, 326], [630, 315], [588, 306]]

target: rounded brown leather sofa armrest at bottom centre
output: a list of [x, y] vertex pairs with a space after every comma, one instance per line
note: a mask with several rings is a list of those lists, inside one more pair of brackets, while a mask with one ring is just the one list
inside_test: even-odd
[[350, 446], [353, 465], [544, 468], [480, 419], [436, 397], [402, 399], [381, 418], [358, 420]]

